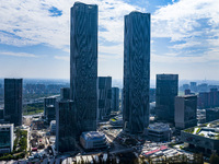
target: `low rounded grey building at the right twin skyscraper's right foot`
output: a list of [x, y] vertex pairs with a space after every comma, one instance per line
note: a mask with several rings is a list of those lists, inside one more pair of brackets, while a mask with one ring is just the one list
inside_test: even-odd
[[168, 124], [155, 122], [150, 124], [145, 131], [146, 136], [153, 141], [170, 141], [171, 128]]

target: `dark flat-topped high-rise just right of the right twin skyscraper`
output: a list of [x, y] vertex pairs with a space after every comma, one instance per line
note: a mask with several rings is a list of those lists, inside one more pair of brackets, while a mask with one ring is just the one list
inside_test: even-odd
[[178, 93], [178, 74], [157, 74], [155, 115], [174, 122], [174, 102]]

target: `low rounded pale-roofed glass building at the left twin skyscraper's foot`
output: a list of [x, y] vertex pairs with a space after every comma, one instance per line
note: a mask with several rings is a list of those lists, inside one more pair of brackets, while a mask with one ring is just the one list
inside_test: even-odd
[[102, 149], [106, 148], [106, 137], [97, 131], [82, 132], [80, 143], [84, 149]]

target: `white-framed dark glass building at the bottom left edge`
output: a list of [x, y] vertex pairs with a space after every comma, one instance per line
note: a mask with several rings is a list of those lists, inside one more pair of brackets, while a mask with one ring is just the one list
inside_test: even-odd
[[0, 154], [13, 151], [13, 124], [0, 125]]

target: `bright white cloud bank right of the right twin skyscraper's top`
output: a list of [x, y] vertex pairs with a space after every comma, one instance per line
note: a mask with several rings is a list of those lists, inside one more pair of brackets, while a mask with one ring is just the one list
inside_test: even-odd
[[[152, 36], [170, 37], [172, 42], [189, 42], [201, 35], [218, 36], [218, 33], [214, 33], [215, 28], [219, 28], [218, 9], [217, 0], [180, 0], [162, 7], [152, 15]], [[204, 19], [206, 24], [199, 22]]]

